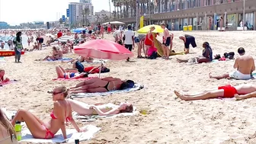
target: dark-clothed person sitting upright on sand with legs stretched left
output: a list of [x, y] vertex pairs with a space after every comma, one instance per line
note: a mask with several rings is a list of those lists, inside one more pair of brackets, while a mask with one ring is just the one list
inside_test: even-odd
[[[203, 56], [197, 57], [196, 60], [198, 63], [203, 62], [212, 62], [213, 61], [213, 50], [210, 47], [210, 44], [208, 42], [203, 43]], [[178, 62], [188, 62], [190, 59], [178, 59]]]

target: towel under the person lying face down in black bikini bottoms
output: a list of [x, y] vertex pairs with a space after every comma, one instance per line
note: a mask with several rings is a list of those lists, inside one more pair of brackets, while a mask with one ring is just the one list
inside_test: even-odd
[[127, 88], [124, 90], [116, 90], [116, 91], [107, 91], [107, 92], [95, 92], [95, 93], [80, 93], [80, 94], [71, 94], [71, 98], [85, 98], [85, 97], [96, 97], [96, 96], [106, 96], [110, 94], [117, 94], [123, 92], [132, 92], [139, 91], [144, 88], [144, 85], [135, 84], [133, 88]]

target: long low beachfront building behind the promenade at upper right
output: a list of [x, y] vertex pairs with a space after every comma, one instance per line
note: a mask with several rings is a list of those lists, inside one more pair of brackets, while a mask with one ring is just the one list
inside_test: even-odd
[[[150, 2], [151, 1], [151, 2]], [[220, 27], [237, 29], [245, 24], [248, 29], [256, 25], [256, 2], [245, 0], [245, 22], [243, 23], [243, 0], [112, 0], [114, 18], [125, 23], [136, 23], [136, 2], [139, 2], [139, 17], [144, 15], [146, 24], [165, 22], [168, 28], [181, 30], [185, 25], [194, 29], [215, 30]], [[150, 5], [150, 7], [149, 7]], [[150, 22], [149, 22], [150, 21]], [[225, 22], [224, 22], [225, 21]]]

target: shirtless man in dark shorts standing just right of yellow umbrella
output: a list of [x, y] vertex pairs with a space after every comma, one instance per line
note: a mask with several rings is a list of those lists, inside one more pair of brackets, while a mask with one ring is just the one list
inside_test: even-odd
[[161, 27], [162, 27], [162, 29], [164, 29], [164, 37], [163, 37], [163, 43], [162, 43], [163, 52], [164, 52], [164, 58], [165, 59], [169, 59], [170, 50], [169, 50], [168, 47], [171, 44], [171, 36], [169, 34], [168, 28], [165, 27], [165, 23], [162, 23]]

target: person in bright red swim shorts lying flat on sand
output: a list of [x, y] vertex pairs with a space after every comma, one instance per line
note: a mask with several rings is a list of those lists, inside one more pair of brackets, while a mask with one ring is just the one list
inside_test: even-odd
[[225, 85], [211, 91], [204, 91], [200, 94], [181, 94], [178, 91], [174, 91], [174, 93], [178, 96], [178, 98], [185, 101], [205, 100], [209, 98], [256, 98], [256, 85]]

